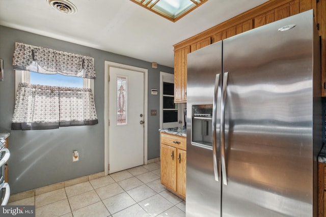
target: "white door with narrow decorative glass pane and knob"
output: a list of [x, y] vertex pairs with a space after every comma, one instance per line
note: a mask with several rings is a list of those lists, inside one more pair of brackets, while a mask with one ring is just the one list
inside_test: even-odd
[[109, 173], [144, 164], [144, 73], [109, 68]]

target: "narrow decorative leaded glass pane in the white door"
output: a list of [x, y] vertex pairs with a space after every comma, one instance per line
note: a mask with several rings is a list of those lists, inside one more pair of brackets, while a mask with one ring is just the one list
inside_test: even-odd
[[127, 125], [127, 77], [117, 76], [117, 125]]

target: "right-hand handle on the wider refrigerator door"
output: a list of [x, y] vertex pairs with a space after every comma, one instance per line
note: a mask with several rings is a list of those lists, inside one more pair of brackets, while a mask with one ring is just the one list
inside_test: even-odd
[[225, 164], [225, 100], [226, 100], [226, 89], [228, 86], [228, 75], [229, 73], [224, 73], [223, 85], [222, 85], [222, 97], [221, 97], [221, 164], [222, 164], [222, 179], [223, 184], [228, 185], [227, 174], [226, 174], [226, 164]]

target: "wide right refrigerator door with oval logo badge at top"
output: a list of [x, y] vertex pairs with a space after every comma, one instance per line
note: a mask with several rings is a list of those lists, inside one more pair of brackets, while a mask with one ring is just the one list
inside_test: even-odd
[[[291, 24], [296, 26], [279, 30]], [[222, 216], [317, 215], [313, 144], [322, 144], [322, 117], [314, 113], [321, 110], [314, 93], [320, 86], [320, 71], [317, 80], [313, 72], [313, 57], [319, 58], [314, 28], [308, 11], [223, 41]]]

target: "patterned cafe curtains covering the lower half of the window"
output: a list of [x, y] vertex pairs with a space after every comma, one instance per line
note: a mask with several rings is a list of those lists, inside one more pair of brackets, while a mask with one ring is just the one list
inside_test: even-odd
[[47, 130], [97, 123], [90, 88], [19, 83], [12, 130]]

